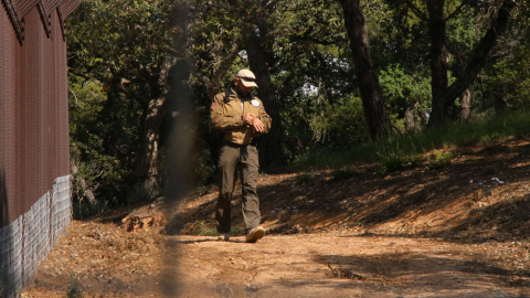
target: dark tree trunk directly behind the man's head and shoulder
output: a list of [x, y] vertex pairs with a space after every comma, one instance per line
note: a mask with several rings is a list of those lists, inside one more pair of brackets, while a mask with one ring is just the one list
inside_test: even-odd
[[259, 140], [259, 147], [263, 148], [259, 161], [263, 168], [284, 166], [287, 162], [284, 153], [284, 127], [279, 117], [278, 98], [261, 46], [261, 38], [252, 29], [245, 30], [244, 33], [243, 42], [251, 71], [256, 75], [257, 97], [262, 99], [265, 110], [273, 118], [271, 130]]

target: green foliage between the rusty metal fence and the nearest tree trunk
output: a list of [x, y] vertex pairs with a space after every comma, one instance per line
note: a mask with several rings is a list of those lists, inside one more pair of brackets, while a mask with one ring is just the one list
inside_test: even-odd
[[[149, 102], [161, 96], [162, 67], [176, 54], [171, 11], [172, 1], [89, 0], [68, 18], [71, 158], [80, 216], [139, 200], [144, 118]], [[86, 191], [95, 205], [86, 205]]]

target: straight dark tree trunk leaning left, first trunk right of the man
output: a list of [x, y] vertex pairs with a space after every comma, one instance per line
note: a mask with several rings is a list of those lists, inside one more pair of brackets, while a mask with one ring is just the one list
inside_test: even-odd
[[353, 54], [353, 64], [370, 137], [378, 139], [389, 136], [391, 131], [390, 118], [384, 107], [381, 86], [372, 63], [360, 0], [340, 0], [340, 4], [344, 14], [344, 26]]

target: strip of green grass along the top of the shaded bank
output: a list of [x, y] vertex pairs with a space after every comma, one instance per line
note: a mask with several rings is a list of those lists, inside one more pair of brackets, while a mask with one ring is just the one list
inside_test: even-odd
[[[417, 167], [424, 160], [422, 157], [426, 156], [424, 160], [426, 166], [439, 169], [451, 164], [455, 151], [459, 148], [487, 146], [502, 138], [528, 134], [530, 113], [512, 113], [469, 124], [451, 124], [414, 134], [392, 136], [347, 150], [317, 149], [300, 157], [294, 166], [301, 169], [338, 168], [356, 161], [380, 162], [381, 172], [386, 173], [404, 167]], [[298, 181], [304, 179], [297, 177]]]

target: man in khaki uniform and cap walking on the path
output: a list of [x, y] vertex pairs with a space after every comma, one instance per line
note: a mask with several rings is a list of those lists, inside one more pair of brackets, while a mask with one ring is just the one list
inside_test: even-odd
[[212, 126], [223, 135], [219, 168], [219, 188], [215, 221], [219, 240], [230, 240], [231, 201], [240, 175], [242, 184], [242, 210], [246, 226], [245, 241], [255, 243], [265, 235], [259, 226], [259, 200], [257, 198], [257, 174], [259, 162], [253, 139], [271, 129], [271, 117], [265, 113], [262, 100], [251, 93], [257, 87], [256, 77], [248, 70], [241, 70], [235, 76], [234, 87], [214, 96], [210, 115]]

